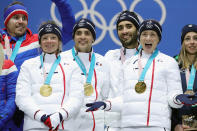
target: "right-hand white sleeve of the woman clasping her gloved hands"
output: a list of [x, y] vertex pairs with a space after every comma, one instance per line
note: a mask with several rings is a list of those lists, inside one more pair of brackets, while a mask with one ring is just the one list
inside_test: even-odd
[[67, 118], [70, 119], [76, 115], [81, 109], [84, 102], [83, 79], [79, 77], [79, 70], [73, 70], [69, 82], [68, 100], [63, 104], [62, 108], [67, 112]]

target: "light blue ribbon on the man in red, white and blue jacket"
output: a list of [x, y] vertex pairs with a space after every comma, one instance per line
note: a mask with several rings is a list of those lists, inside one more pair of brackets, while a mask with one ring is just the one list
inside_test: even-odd
[[10, 57], [10, 60], [11, 60], [12, 62], [14, 62], [14, 60], [15, 60], [15, 58], [16, 58], [16, 55], [17, 55], [17, 53], [18, 53], [18, 50], [19, 50], [19, 48], [20, 48], [22, 42], [25, 40], [25, 38], [26, 38], [26, 35], [24, 35], [23, 37], [19, 37], [19, 39], [17, 40], [16, 45], [15, 45], [15, 47], [14, 47], [14, 50], [13, 50], [13, 52], [12, 52], [12, 55], [11, 55], [11, 57]]

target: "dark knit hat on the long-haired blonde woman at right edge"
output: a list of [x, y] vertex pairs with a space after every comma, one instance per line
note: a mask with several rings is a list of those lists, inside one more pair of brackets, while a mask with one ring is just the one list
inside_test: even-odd
[[184, 37], [188, 32], [196, 32], [197, 33], [197, 25], [195, 24], [188, 24], [182, 28], [181, 33], [181, 44], [183, 43]]

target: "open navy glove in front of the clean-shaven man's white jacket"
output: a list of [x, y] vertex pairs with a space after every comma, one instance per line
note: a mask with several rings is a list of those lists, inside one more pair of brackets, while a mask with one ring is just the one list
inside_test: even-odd
[[97, 101], [97, 102], [94, 102], [94, 103], [87, 103], [86, 106], [89, 107], [86, 110], [86, 112], [88, 112], [88, 111], [96, 111], [96, 110], [98, 110], [101, 107], [102, 107], [102, 110], [104, 110], [106, 108], [106, 103], [103, 102], [103, 101]]

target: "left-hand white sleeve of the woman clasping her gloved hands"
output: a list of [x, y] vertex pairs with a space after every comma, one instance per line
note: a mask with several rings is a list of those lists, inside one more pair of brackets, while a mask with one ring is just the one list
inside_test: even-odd
[[[40, 117], [45, 114], [44, 111], [40, 111], [39, 105], [37, 105], [33, 98], [31, 97], [31, 77], [30, 77], [30, 66], [25, 61], [22, 66], [18, 76], [16, 85], [16, 105], [22, 110], [26, 115], [32, 119], [40, 120]], [[38, 113], [39, 112], [39, 113]]]

